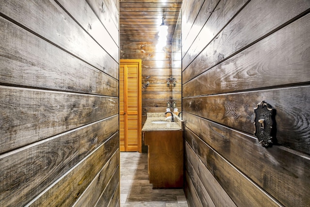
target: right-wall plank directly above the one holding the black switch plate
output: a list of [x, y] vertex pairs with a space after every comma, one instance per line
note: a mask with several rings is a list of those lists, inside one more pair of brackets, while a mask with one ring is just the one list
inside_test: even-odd
[[[184, 96], [273, 88], [309, 81], [310, 70], [304, 69], [310, 68], [310, 61], [305, 58], [310, 48], [309, 35], [305, 35], [308, 33], [310, 15], [301, 17], [227, 61], [212, 67], [207, 73], [186, 82], [183, 88]], [[288, 58], [282, 55], [283, 50], [294, 52]], [[200, 65], [202, 66], [202, 63]], [[201, 86], [201, 90], [193, 90], [198, 86]]]

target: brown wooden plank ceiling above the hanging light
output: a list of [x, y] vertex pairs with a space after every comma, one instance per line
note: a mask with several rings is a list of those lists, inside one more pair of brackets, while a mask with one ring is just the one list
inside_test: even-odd
[[181, 6], [182, 0], [120, 0], [120, 41], [157, 41], [164, 17], [170, 42]]

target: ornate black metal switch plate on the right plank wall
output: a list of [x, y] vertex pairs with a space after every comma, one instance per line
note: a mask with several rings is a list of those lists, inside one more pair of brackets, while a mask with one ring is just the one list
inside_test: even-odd
[[275, 140], [275, 110], [262, 101], [254, 108], [254, 136], [262, 146], [269, 146]]

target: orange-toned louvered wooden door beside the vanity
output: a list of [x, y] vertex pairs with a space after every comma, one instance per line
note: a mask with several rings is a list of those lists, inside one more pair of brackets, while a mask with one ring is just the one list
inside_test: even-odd
[[120, 149], [141, 152], [141, 60], [120, 62]]

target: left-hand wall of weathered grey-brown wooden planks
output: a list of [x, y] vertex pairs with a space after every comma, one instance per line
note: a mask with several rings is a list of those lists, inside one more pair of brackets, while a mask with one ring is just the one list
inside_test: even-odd
[[1, 207], [119, 206], [118, 18], [115, 0], [1, 1]]

